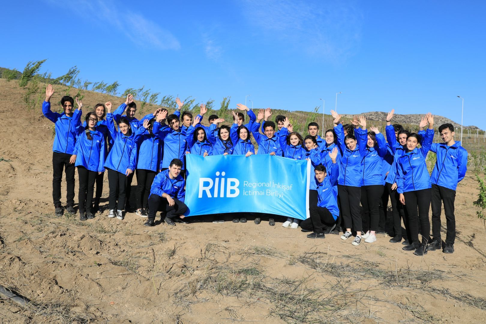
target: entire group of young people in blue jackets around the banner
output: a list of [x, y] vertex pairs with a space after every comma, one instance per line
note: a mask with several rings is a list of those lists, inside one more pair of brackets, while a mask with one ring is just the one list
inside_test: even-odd
[[[383, 232], [388, 223], [393, 224], [388, 231], [392, 236], [390, 242], [402, 242], [403, 250], [414, 251], [417, 256], [437, 249], [444, 253], [454, 251], [455, 189], [465, 176], [468, 153], [454, 140], [454, 127], [449, 123], [438, 128], [442, 142], [433, 143], [434, 116], [430, 113], [421, 119], [420, 131], [411, 133], [399, 124], [392, 124], [392, 110], [387, 115], [383, 135], [377, 127], [367, 128], [364, 117], [342, 124], [341, 115], [331, 111], [334, 127], [321, 138], [315, 122], [308, 125], [309, 135], [303, 137], [294, 132], [288, 118], [278, 115], [275, 122], [269, 120], [270, 108], [260, 109], [255, 115], [243, 104], [237, 105], [237, 113], [233, 112], [232, 126], [220, 125], [225, 119], [216, 115], [209, 116], [209, 126], [201, 124], [208, 111], [206, 106], [202, 104], [193, 119], [191, 112], [181, 112], [184, 102], [178, 98], [173, 114], [160, 108], [139, 120], [135, 118], [137, 105], [131, 94], [113, 112], [111, 102], [96, 104], [82, 121], [83, 104], [77, 98], [77, 109], [74, 99], [64, 96], [61, 99], [64, 112], [52, 112], [53, 93], [52, 85], [48, 85], [42, 111], [55, 123], [52, 196], [58, 217], [64, 213], [60, 202], [63, 170], [67, 211], [74, 214], [74, 170], [78, 169], [81, 221], [94, 218], [99, 210], [106, 170], [109, 218], [123, 220], [124, 211], [132, 211], [128, 198], [136, 174], [135, 212], [147, 218], [144, 225], [154, 226], [158, 211], [164, 213], [166, 224], [175, 225], [177, 221], [187, 222], [183, 216], [187, 210], [186, 154], [246, 157], [270, 154], [307, 159], [313, 169], [308, 188], [310, 218], [300, 224], [298, 219], [287, 218], [282, 226], [300, 225], [303, 232], [312, 232], [307, 235], [312, 239], [325, 238], [325, 233], [340, 234], [342, 229], [341, 239], [354, 236], [352, 244], [360, 245], [362, 239], [366, 243], [375, 242], [376, 234]], [[243, 112], [249, 118], [246, 124]], [[250, 139], [252, 135], [258, 144], [257, 152]], [[426, 165], [429, 151], [437, 155], [432, 175]], [[391, 214], [387, 212], [389, 200]], [[442, 203], [447, 224], [445, 244], [440, 233]], [[214, 222], [224, 222], [223, 215], [215, 215]], [[246, 222], [246, 217], [235, 215], [233, 222]], [[260, 217], [255, 218], [255, 223], [260, 223]], [[272, 218], [269, 224], [275, 225]]]

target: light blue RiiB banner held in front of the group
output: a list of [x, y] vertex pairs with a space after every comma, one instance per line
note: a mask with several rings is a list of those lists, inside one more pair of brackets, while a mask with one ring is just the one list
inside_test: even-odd
[[256, 212], [309, 217], [311, 163], [270, 155], [186, 155], [187, 216]]

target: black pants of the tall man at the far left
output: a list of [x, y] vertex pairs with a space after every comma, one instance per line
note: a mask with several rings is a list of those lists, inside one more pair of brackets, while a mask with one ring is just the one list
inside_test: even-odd
[[68, 206], [74, 205], [74, 164], [69, 163], [71, 154], [52, 152], [52, 199], [54, 207], [61, 207], [62, 171], [66, 172]]

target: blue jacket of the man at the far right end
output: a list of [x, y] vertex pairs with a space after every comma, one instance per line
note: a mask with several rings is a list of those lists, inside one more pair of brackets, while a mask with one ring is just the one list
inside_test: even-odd
[[455, 190], [464, 179], [468, 169], [468, 151], [456, 141], [451, 146], [446, 143], [432, 144], [430, 150], [437, 154], [434, 170], [430, 177], [434, 185]]

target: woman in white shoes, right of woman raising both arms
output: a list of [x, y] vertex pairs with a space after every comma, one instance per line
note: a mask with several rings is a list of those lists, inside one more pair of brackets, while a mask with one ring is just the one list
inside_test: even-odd
[[378, 127], [370, 127], [367, 134], [366, 151], [361, 160], [363, 180], [361, 184], [361, 205], [363, 206], [362, 238], [366, 243], [376, 241], [380, 211], [378, 206], [383, 194], [383, 158], [388, 152], [385, 137]]

